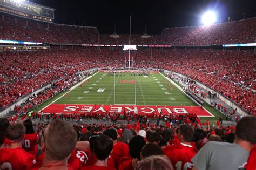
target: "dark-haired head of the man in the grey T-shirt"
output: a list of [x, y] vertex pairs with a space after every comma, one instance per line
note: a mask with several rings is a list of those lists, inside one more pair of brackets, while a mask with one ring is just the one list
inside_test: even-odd
[[256, 117], [242, 117], [235, 128], [235, 137], [256, 144]]

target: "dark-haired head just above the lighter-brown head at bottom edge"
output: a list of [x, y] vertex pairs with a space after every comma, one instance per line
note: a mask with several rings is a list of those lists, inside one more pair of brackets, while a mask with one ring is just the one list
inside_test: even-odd
[[164, 152], [162, 151], [161, 147], [154, 143], [146, 144], [142, 148], [142, 152], [140, 153], [140, 156], [145, 159], [147, 157], [150, 157], [151, 155], [163, 155]]

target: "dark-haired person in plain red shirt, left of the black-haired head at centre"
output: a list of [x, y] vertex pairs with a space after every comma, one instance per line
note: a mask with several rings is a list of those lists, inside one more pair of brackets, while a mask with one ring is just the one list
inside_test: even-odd
[[127, 144], [117, 140], [117, 130], [109, 128], [105, 130], [103, 134], [113, 140], [111, 157], [114, 160], [114, 166], [117, 168], [119, 160], [129, 156], [129, 147]]

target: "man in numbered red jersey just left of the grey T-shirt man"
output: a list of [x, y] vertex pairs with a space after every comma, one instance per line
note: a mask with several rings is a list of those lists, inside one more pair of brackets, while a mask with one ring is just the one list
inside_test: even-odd
[[172, 161], [174, 169], [191, 169], [191, 158], [197, 154], [197, 149], [191, 145], [194, 138], [194, 129], [190, 125], [181, 125], [178, 137], [179, 144], [166, 146], [164, 154]]

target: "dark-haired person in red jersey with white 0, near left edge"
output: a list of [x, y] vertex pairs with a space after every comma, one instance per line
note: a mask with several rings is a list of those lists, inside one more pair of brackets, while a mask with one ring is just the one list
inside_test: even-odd
[[35, 146], [38, 140], [38, 135], [33, 130], [31, 119], [26, 119], [23, 124], [26, 127], [26, 135], [23, 141], [23, 148], [25, 151], [31, 154], [35, 154]]

